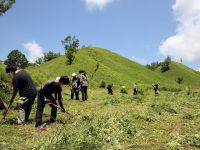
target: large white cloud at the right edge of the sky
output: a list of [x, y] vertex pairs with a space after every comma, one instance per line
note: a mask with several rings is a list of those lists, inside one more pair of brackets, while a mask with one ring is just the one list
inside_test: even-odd
[[200, 60], [200, 0], [176, 0], [172, 6], [178, 26], [176, 34], [160, 46], [163, 55], [193, 62]]

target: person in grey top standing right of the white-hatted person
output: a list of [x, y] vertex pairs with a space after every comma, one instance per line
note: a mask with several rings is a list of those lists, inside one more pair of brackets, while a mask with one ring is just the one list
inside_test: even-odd
[[84, 70], [80, 70], [79, 73], [80, 73], [80, 87], [82, 92], [82, 100], [86, 101], [88, 99], [87, 88], [89, 80]]

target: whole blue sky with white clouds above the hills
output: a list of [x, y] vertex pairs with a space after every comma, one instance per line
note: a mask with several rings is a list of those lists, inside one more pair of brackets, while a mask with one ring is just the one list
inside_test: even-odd
[[0, 17], [0, 59], [6, 59], [13, 49], [25, 53], [30, 61], [49, 50], [64, 53], [61, 40], [75, 35], [80, 45], [106, 48], [142, 64], [162, 61], [169, 55], [199, 69], [200, 3], [187, 3], [16, 0]]

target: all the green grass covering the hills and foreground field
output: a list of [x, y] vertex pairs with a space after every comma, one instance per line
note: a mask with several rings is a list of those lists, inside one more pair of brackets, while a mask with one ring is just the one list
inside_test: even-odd
[[[0, 81], [10, 85], [5, 66], [0, 65], [0, 69]], [[167, 72], [161, 73], [159, 67], [151, 71], [95, 47], [77, 51], [72, 65], [66, 66], [66, 58], [61, 56], [29, 67], [28, 72], [41, 87], [49, 79], [60, 75], [71, 77], [71, 73], [78, 73], [80, 69], [86, 70], [90, 79], [89, 100], [70, 100], [70, 87], [63, 88], [64, 106], [74, 118], [58, 110], [57, 122], [40, 131], [34, 128], [36, 102], [31, 122], [25, 126], [15, 124], [16, 111], [11, 109], [6, 120], [0, 120], [0, 149], [200, 148], [198, 72], [175, 62], [170, 63]], [[176, 82], [180, 76], [184, 79], [182, 84]], [[159, 96], [154, 96], [151, 86], [155, 81], [160, 85]], [[102, 82], [113, 83], [114, 95], [99, 88]], [[137, 96], [133, 95], [134, 82], [138, 83]], [[121, 93], [122, 86], [126, 87], [127, 94]], [[2, 99], [5, 101], [7, 97], [5, 94]], [[50, 107], [46, 106], [43, 120], [47, 123], [49, 114]]]

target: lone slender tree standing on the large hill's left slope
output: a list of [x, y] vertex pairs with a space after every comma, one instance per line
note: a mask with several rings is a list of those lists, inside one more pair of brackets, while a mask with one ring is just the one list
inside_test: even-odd
[[67, 58], [67, 65], [71, 65], [75, 59], [75, 53], [78, 50], [79, 40], [75, 36], [67, 36], [62, 44], [65, 48], [65, 56]]

